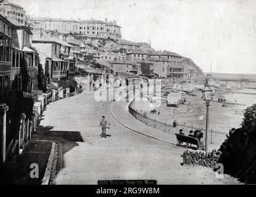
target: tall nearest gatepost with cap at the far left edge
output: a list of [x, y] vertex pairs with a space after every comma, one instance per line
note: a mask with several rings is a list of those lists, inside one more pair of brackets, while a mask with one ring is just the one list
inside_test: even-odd
[[0, 104], [0, 169], [2, 169], [2, 167], [6, 163], [6, 112], [8, 110], [9, 107], [6, 104]]

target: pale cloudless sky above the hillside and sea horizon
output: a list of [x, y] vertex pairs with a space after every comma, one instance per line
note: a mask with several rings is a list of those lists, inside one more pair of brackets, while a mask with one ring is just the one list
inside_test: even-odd
[[256, 74], [255, 0], [9, 0], [41, 17], [117, 20], [122, 38], [191, 58], [204, 72]]

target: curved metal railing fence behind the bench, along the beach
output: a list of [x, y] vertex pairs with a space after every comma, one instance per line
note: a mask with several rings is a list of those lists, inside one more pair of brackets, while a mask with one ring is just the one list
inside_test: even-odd
[[[134, 102], [134, 101], [133, 101]], [[135, 110], [132, 105], [133, 102], [130, 103], [129, 105], [129, 113], [133, 115], [136, 119], [141, 121], [142, 123], [146, 124], [147, 126], [153, 127], [155, 129], [159, 129], [160, 131], [167, 132], [168, 134], [177, 134], [180, 129], [183, 129], [183, 132], [185, 134], [189, 134], [189, 131], [194, 131], [194, 130], [200, 130], [204, 133], [205, 136], [205, 129], [202, 127], [197, 127], [197, 126], [189, 126], [186, 124], [177, 124], [176, 127], [173, 127], [173, 125], [168, 124], [166, 122], [159, 121], [157, 119], [152, 119], [147, 116], [146, 113], [143, 113], [142, 111], [139, 112], [138, 110]], [[226, 132], [223, 131], [217, 131], [214, 129], [209, 129], [207, 132], [208, 134], [208, 139], [209, 143], [213, 143], [216, 145], [220, 145], [226, 140]], [[204, 139], [202, 139], [204, 141]]]

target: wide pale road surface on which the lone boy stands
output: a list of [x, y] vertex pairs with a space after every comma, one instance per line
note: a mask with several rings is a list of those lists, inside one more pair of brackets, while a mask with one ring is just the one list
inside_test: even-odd
[[[125, 120], [125, 109], [116, 103], [113, 115]], [[56, 184], [97, 184], [104, 179], [155, 179], [159, 184], [238, 183], [228, 175], [217, 179], [207, 167], [181, 166], [184, 148], [123, 126], [133, 125], [139, 131], [152, 129], [133, 116], [127, 116], [121, 124], [112, 116], [112, 104], [97, 102], [94, 92], [83, 92], [47, 105], [38, 135], [61, 143]], [[107, 130], [111, 137], [107, 139], [99, 137], [102, 115], [111, 123]]]

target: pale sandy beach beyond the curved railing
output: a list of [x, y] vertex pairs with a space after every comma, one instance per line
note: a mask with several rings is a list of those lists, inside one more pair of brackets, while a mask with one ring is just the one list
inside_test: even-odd
[[[215, 96], [218, 97], [224, 93], [217, 92]], [[206, 107], [201, 96], [201, 92], [197, 92], [196, 97], [186, 96], [187, 103], [180, 105], [179, 108], [167, 107], [166, 102], [162, 101], [162, 105], [155, 108], [157, 110], [155, 114], [150, 112], [153, 108], [151, 108], [152, 105], [149, 102], [134, 102], [133, 108], [146, 112], [150, 118], [158, 119], [168, 124], [172, 124], [176, 120], [178, 123], [186, 123], [189, 126], [205, 127]], [[221, 103], [211, 102], [209, 128], [228, 132], [233, 127], [239, 127], [244, 117], [243, 110], [231, 105], [229, 107], [222, 107]], [[160, 112], [160, 115], [158, 115], [158, 112]]]

